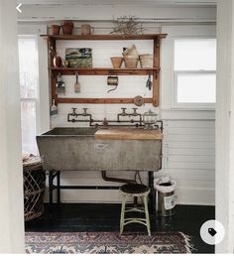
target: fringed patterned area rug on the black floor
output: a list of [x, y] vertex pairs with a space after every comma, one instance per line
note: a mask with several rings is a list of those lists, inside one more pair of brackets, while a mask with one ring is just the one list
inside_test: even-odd
[[27, 232], [26, 253], [191, 253], [181, 232]]

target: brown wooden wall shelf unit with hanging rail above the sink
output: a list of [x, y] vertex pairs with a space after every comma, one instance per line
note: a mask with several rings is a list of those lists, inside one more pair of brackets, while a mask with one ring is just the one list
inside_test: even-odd
[[[49, 72], [51, 79], [52, 98], [58, 103], [89, 103], [89, 104], [133, 104], [134, 98], [61, 98], [56, 93], [57, 75], [73, 75], [78, 72], [79, 75], [153, 75], [153, 96], [152, 98], [144, 98], [145, 103], [152, 103], [155, 107], [159, 106], [159, 90], [160, 90], [160, 45], [161, 40], [167, 37], [167, 34], [146, 34], [146, 35], [69, 35], [69, 36], [52, 36], [41, 35], [48, 41], [49, 50]], [[53, 67], [52, 52], [57, 52], [58, 40], [153, 40], [154, 54], [153, 67], [151, 68], [111, 68], [111, 67], [92, 67], [92, 68], [70, 68], [70, 67]], [[51, 51], [51, 50], [54, 51]]]

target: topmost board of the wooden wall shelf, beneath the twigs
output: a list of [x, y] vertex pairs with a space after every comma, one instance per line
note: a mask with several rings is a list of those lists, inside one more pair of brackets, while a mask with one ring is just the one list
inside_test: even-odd
[[165, 39], [167, 34], [144, 34], [144, 35], [41, 35], [42, 38], [52, 40], [155, 40]]

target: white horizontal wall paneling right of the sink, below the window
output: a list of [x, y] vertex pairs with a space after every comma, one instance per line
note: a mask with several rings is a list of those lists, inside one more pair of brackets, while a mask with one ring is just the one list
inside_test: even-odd
[[214, 121], [167, 120], [163, 147], [163, 170], [176, 181], [180, 204], [214, 204]]

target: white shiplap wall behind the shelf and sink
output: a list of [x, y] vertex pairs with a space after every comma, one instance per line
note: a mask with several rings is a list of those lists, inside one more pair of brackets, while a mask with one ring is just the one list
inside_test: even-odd
[[[97, 25], [98, 26], [98, 25]], [[100, 26], [100, 25], [99, 25]], [[213, 35], [213, 26], [178, 26], [177, 28], [162, 28], [169, 37], [162, 44], [162, 76], [161, 76], [161, 105], [153, 108], [146, 105], [139, 108], [144, 113], [149, 108], [156, 111], [164, 119], [165, 140], [163, 170], [159, 175], [170, 175], [176, 180], [177, 202], [184, 204], [214, 204], [214, 119], [213, 111], [175, 110], [172, 109], [172, 81], [173, 81], [173, 36], [175, 31], [179, 36], [204, 36]], [[107, 33], [107, 30], [99, 30]], [[150, 31], [151, 32], [151, 31]], [[150, 33], [149, 32], [149, 33]], [[159, 32], [155, 27], [153, 33]], [[152, 53], [152, 42], [142, 41], [116, 41], [116, 42], [62, 42], [58, 41], [59, 54], [64, 54], [65, 48], [90, 47], [93, 49], [93, 66], [111, 66], [109, 58], [120, 56], [123, 47], [136, 44], [140, 54]], [[66, 83], [65, 97], [75, 97], [73, 93], [73, 76], [63, 76]], [[133, 97], [151, 95], [145, 84], [147, 76], [119, 76], [120, 82], [117, 90], [107, 94], [106, 76], [80, 76], [81, 93], [79, 97]], [[58, 116], [51, 120], [52, 127], [78, 126], [77, 123], [67, 123], [66, 115], [71, 107], [77, 107], [81, 112], [82, 107], [87, 107], [94, 119], [115, 119], [121, 107], [131, 109], [135, 105], [127, 104], [60, 104]], [[179, 119], [178, 119], [179, 117]], [[206, 118], [207, 117], [207, 118]], [[82, 124], [83, 125], [83, 124]], [[124, 178], [133, 178], [133, 173], [123, 173]], [[112, 173], [110, 176], [118, 177]], [[100, 173], [71, 172], [63, 173], [62, 184], [65, 185], [107, 185], [101, 180]], [[147, 175], [143, 174], [147, 182]], [[108, 185], [115, 185], [108, 183]], [[120, 201], [118, 191], [63, 191], [62, 201]]]

